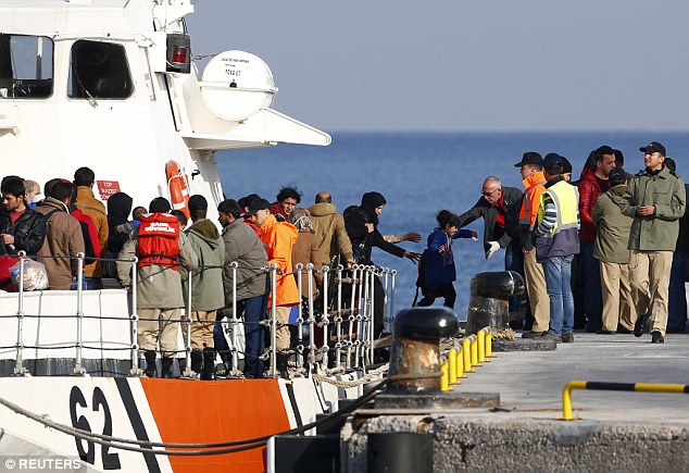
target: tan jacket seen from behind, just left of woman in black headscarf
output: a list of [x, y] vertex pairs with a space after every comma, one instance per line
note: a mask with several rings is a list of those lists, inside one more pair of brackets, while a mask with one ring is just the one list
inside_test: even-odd
[[309, 208], [311, 225], [318, 244], [321, 263], [337, 264], [352, 260], [352, 242], [344, 228], [344, 217], [337, 213], [337, 208], [328, 202], [316, 203]]

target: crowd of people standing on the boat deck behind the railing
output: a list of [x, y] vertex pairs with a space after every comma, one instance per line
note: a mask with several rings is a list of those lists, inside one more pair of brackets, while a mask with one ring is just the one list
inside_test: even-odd
[[[277, 369], [286, 374], [295, 341], [289, 322], [308, 298], [309, 287], [318, 290], [323, 265], [373, 264], [374, 246], [412, 261], [419, 258], [394, 242], [419, 241], [421, 235], [383, 236], [378, 232], [378, 216], [386, 204], [379, 192], [364, 194], [361, 206], [347, 209], [343, 215], [325, 191], [318, 192], [309, 209], [299, 207], [302, 195], [292, 187], [280, 189], [274, 202], [255, 194], [226, 199], [217, 207], [221, 232], [206, 219], [209, 203], [203, 196], [191, 196], [186, 212], [173, 210], [163, 197], [153, 199], [148, 209], [133, 210], [134, 201], [125, 192], [110, 196], [105, 207], [93, 196], [95, 179], [91, 170], [82, 167], [73, 182], [55, 178], [46, 183], [43, 194], [33, 181], [2, 179], [3, 288], [12, 290], [7, 273], [20, 251], [45, 265], [53, 290], [77, 288], [78, 253], [85, 256], [83, 289], [101, 288], [103, 277], [116, 278], [127, 290], [136, 284], [138, 343], [146, 360], [145, 374], [150, 377], [159, 375], [158, 353], [160, 375], [172, 376], [174, 358], [180, 351], [180, 310], [188, 307], [189, 295], [191, 370], [201, 379], [214, 377], [217, 353], [225, 369], [229, 365], [230, 350], [218, 321], [234, 309], [245, 322], [243, 375], [263, 376], [266, 337], [261, 322], [273, 303], [278, 320]], [[137, 257], [136, 269], [133, 257]], [[314, 265], [312, 285], [308, 272], [300, 275], [295, 271], [298, 263]], [[278, 267], [274, 282], [266, 272], [271, 264]], [[385, 296], [378, 278], [375, 286], [374, 325], [379, 335]]]

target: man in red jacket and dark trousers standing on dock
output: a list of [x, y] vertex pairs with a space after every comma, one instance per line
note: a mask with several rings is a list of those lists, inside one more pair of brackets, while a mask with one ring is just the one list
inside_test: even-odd
[[601, 269], [599, 261], [593, 258], [597, 228], [592, 213], [598, 196], [610, 190], [607, 176], [615, 169], [615, 151], [609, 146], [601, 146], [596, 150], [594, 157], [593, 166], [584, 169], [578, 185], [581, 219], [579, 261], [582, 265], [585, 281], [586, 332], [602, 333]]

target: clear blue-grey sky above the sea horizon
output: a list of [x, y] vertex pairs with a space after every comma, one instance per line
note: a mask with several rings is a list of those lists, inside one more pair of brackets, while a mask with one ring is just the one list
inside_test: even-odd
[[252, 52], [328, 132], [689, 129], [689, 1], [195, 0], [197, 54]]

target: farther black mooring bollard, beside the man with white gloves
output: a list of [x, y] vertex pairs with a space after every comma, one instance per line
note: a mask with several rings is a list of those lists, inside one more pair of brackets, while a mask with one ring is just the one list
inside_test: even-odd
[[480, 273], [472, 279], [472, 297], [466, 333], [476, 334], [488, 326], [503, 331], [510, 326], [510, 296], [524, 292], [524, 278], [514, 271]]

